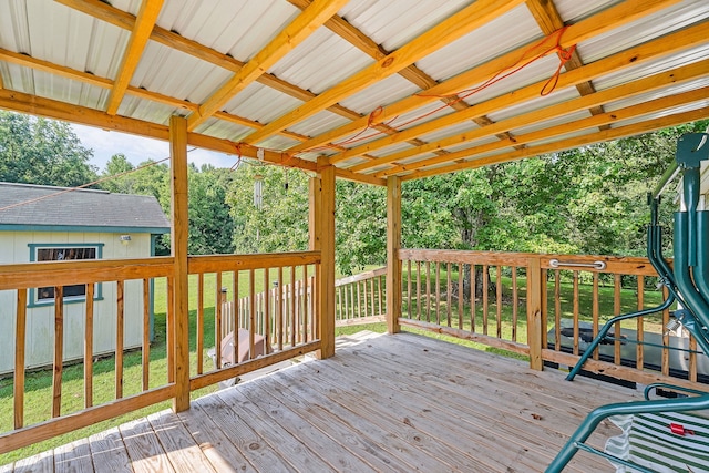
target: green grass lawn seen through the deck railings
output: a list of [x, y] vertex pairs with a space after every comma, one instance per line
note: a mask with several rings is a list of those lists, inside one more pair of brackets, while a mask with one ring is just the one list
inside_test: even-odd
[[[297, 278], [300, 278], [302, 268], [298, 268]], [[309, 268], [309, 275], [312, 274], [312, 269]], [[442, 273], [442, 279], [445, 278], [445, 275]], [[273, 282], [277, 278], [276, 270], [269, 271], [268, 282]], [[454, 284], [458, 284], [458, 274], [453, 273], [452, 278]], [[492, 280], [495, 280], [494, 274]], [[290, 281], [290, 271], [286, 271], [284, 274], [284, 284], [288, 284]], [[210, 370], [212, 360], [206, 356], [206, 350], [208, 348], [214, 347], [215, 335], [214, 330], [210, 327], [214, 327], [214, 306], [217, 300], [217, 284], [216, 277], [214, 274], [206, 275], [204, 278], [204, 315], [205, 315], [205, 340], [204, 347], [205, 350], [203, 353], [196, 352], [196, 319], [197, 319], [197, 277], [191, 276], [189, 278], [189, 333], [191, 333], [191, 372], [196, 372], [197, 366], [197, 357], [202, 357], [204, 369], [206, 371]], [[263, 290], [265, 285], [265, 275], [263, 270], [256, 271], [255, 277], [255, 291], [259, 292]], [[442, 281], [444, 285], [444, 282]], [[503, 305], [501, 308], [502, 317], [500, 320], [501, 331], [503, 333], [504, 339], [512, 339], [512, 280], [510, 277], [502, 277], [503, 284]], [[517, 277], [518, 285], [518, 297], [521, 300], [521, 305], [517, 309], [517, 329], [516, 329], [516, 339], [520, 342], [526, 342], [526, 306], [524, 305], [524, 298], [526, 297], [526, 280], [524, 277]], [[155, 281], [155, 339], [151, 345], [151, 387], [163, 385], [166, 382], [166, 372], [167, 372], [167, 363], [166, 363], [166, 343], [165, 343], [165, 312], [166, 312], [166, 281], [164, 279], [158, 279]], [[233, 273], [224, 274], [224, 277], [220, 281], [222, 287], [227, 288], [227, 297], [229, 299], [233, 298]], [[248, 271], [242, 271], [239, 274], [238, 281], [238, 292], [239, 297], [244, 297], [249, 291], [249, 274]], [[405, 294], [407, 284], [404, 281], [404, 304], [403, 304], [403, 312], [404, 315], [408, 311], [408, 296]], [[442, 290], [445, 288], [442, 287]], [[549, 315], [548, 315], [548, 323], [549, 327], [554, 323], [554, 284], [549, 281], [547, 285], [548, 297], [549, 297]], [[579, 286], [579, 306], [580, 306], [580, 319], [582, 320], [590, 320], [590, 299], [592, 299], [592, 288], [590, 286], [580, 285]], [[412, 295], [412, 309], [415, 318], [415, 282], [414, 290]], [[602, 287], [599, 289], [599, 304], [600, 304], [600, 313], [602, 318], [605, 320], [613, 316], [613, 300], [614, 300], [614, 289], [613, 287]], [[658, 305], [661, 301], [661, 294], [659, 291], [646, 291], [645, 294], [645, 305], [646, 307], [650, 307], [654, 305]], [[422, 308], [425, 308], [425, 304], [422, 301]], [[569, 318], [572, 317], [573, 310], [573, 286], [568, 282], [564, 282], [561, 286], [561, 302], [562, 302], [562, 317]], [[623, 302], [623, 311], [635, 310], [637, 308], [637, 295], [635, 290], [624, 289], [621, 291], [621, 302]], [[477, 301], [475, 307], [475, 319], [476, 319], [476, 330], [481, 332], [480, 321], [482, 320], [482, 302]], [[442, 297], [441, 305], [439, 307], [441, 317], [443, 317], [443, 325], [446, 325], [445, 316], [448, 313], [448, 308], [445, 306], [445, 300]], [[453, 327], [458, 327], [458, 301], [455, 300], [451, 307], [452, 318], [451, 325]], [[464, 304], [463, 310], [463, 328], [470, 329], [470, 301]], [[425, 317], [423, 317], [425, 319]], [[651, 323], [659, 323], [659, 320], [656, 320], [657, 317], [646, 318], [646, 321], [650, 321]], [[435, 315], [433, 315], [433, 320], [435, 320]], [[494, 336], [496, 333], [496, 302], [495, 296], [491, 292], [490, 295], [490, 307], [489, 307], [489, 333]], [[336, 329], [336, 335], [348, 335], [354, 333], [360, 330], [371, 330], [377, 332], [386, 331], [386, 323], [368, 323], [360, 326], [346, 326], [338, 327]], [[496, 352], [504, 356], [514, 356], [516, 358], [520, 357], [514, 353], [506, 352], [504, 350], [486, 347], [480, 343], [456, 339], [453, 337], [435, 335], [431, 332], [427, 332], [423, 330], [410, 329], [407, 328], [407, 331], [422, 333], [425, 336], [443, 339], [446, 341], [451, 341], [453, 343], [459, 343], [467, 347], [472, 347], [480, 350]], [[141, 351], [129, 352], [124, 357], [124, 395], [131, 395], [141, 391], [141, 379], [142, 379], [142, 364], [141, 364]], [[94, 363], [94, 404], [101, 404], [103, 402], [107, 402], [114, 399], [114, 359], [112, 357], [104, 358], [97, 360]], [[37, 422], [41, 422], [51, 417], [51, 399], [52, 399], [52, 374], [51, 370], [44, 371], [34, 371], [29, 372], [25, 379], [25, 424], [33, 424]], [[83, 408], [83, 364], [74, 364], [66, 367], [63, 371], [63, 392], [62, 392], [62, 413], [71, 413], [76, 412]], [[192, 397], [197, 398], [204, 395], [208, 392], [213, 392], [216, 390], [216, 387], [205, 388], [197, 392], [193, 392]], [[12, 378], [0, 379], [0, 431], [7, 432], [12, 429], [12, 419], [13, 419], [13, 395], [12, 395]], [[169, 402], [163, 402], [156, 405], [152, 405], [145, 408], [140, 411], [131, 412], [125, 415], [121, 415], [116, 419], [104, 421], [91, 425], [85, 429], [81, 429], [64, 435], [56, 436], [54, 439], [40, 442], [33, 445], [30, 445], [24, 449], [19, 449], [17, 451], [6, 453], [0, 455], [0, 465], [9, 463], [13, 460], [18, 460], [21, 457], [30, 456], [32, 454], [52, 449], [54, 446], [71, 442], [76, 439], [85, 438], [91, 435], [92, 433], [101, 432], [106, 430], [113, 425], [117, 425], [124, 422], [127, 422], [133, 419], [137, 419], [148, 413], [161, 411], [164, 409], [168, 409], [171, 407]]]

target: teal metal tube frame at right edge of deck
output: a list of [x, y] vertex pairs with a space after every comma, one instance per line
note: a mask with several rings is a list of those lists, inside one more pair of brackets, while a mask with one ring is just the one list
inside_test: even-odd
[[[662, 175], [660, 184], [656, 187], [650, 198], [651, 223], [648, 226], [648, 258], [660, 275], [660, 280], [668, 288], [670, 296], [657, 308], [618, 316], [609, 320], [569, 372], [567, 380], [571, 381], [574, 379], [583, 367], [583, 363], [606, 337], [613, 323], [619, 320], [665, 310], [675, 300], [681, 305], [681, 309], [675, 311], [675, 318], [691, 332], [703, 353], [709, 353], [709, 238], [707, 238], [707, 230], [709, 230], [709, 212], [697, 210], [699, 203], [700, 163], [709, 158], [708, 138], [709, 134], [706, 133], [689, 133], [682, 135], [677, 143], [676, 161], [677, 167], [681, 171], [684, 177], [682, 198], [686, 210], [675, 214], [674, 271], [661, 254], [661, 230], [657, 223], [657, 205], [659, 203], [659, 194], [661, 194], [662, 189], [675, 175], [675, 166]], [[688, 393], [695, 395], [649, 400], [649, 392], [657, 388], [678, 391], [684, 393], [684, 395]], [[563, 471], [578, 450], [600, 455], [640, 472], [653, 473], [651, 470], [598, 451], [586, 445], [584, 442], [588, 440], [588, 436], [596, 426], [598, 426], [600, 421], [612, 415], [701, 411], [709, 409], [709, 393], [675, 387], [672, 384], [650, 384], [646, 388], [644, 397], [645, 401], [607, 404], [594, 409], [562, 448], [554, 461], [546, 469], [546, 473]]]

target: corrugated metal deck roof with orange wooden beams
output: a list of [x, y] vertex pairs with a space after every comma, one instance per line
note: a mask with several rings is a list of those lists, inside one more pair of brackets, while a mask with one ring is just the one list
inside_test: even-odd
[[382, 184], [709, 116], [706, 0], [7, 0], [0, 107]]

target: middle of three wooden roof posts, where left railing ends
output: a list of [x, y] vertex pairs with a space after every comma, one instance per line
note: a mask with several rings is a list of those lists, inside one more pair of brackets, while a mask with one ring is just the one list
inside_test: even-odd
[[335, 354], [335, 166], [321, 157], [318, 172], [319, 178], [310, 182], [310, 249], [320, 250], [317, 357], [330, 358]]

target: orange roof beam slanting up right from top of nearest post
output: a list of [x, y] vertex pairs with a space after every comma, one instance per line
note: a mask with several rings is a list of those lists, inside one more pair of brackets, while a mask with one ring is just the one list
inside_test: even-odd
[[204, 123], [234, 95], [243, 91], [282, 56], [305, 41], [346, 3], [347, 0], [315, 0], [301, 14], [248, 61], [226, 84], [212, 94], [205, 103], [199, 105], [199, 110], [196, 113], [189, 115], [187, 119], [187, 128], [194, 131]]

